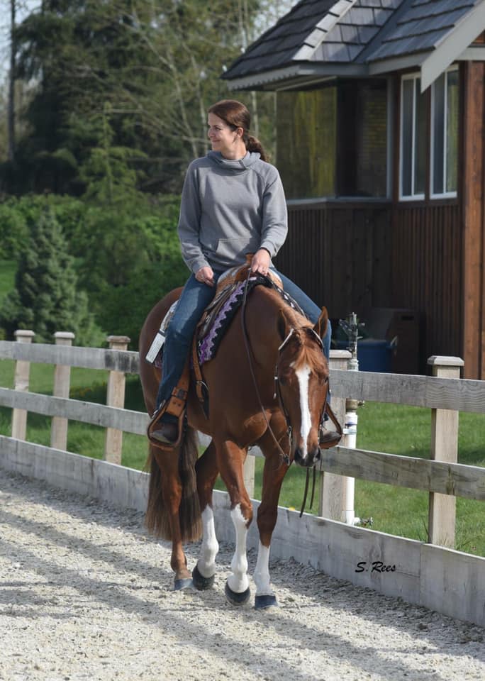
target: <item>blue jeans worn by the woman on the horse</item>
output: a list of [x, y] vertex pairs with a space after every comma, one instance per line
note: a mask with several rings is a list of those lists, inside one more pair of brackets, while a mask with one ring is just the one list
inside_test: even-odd
[[[274, 269], [273, 271], [277, 272]], [[222, 272], [214, 272], [214, 282], [217, 282], [221, 274]], [[308, 319], [315, 324], [320, 316], [320, 308], [291, 279], [281, 275], [281, 272], [277, 272], [277, 275], [281, 277], [286, 293], [296, 300]], [[190, 353], [197, 323], [215, 294], [216, 286], [207, 286], [198, 282], [194, 275], [190, 275], [167, 329], [167, 337], [163, 346], [162, 380], [157, 394], [157, 409], [163, 400], [169, 399], [172, 390], [179, 382], [186, 358]], [[332, 328], [329, 320], [327, 333], [323, 338], [323, 353], [327, 359], [330, 355], [331, 336]]]

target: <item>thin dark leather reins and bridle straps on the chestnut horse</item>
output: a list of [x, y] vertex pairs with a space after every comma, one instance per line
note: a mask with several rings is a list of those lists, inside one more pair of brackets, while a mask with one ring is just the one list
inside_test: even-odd
[[[253, 367], [253, 362], [252, 362], [252, 350], [251, 350], [251, 347], [250, 347], [249, 338], [247, 336], [247, 327], [246, 327], [246, 320], [245, 320], [246, 303], [247, 303], [247, 287], [248, 287], [248, 284], [249, 284], [249, 281], [250, 281], [250, 276], [251, 276], [251, 269], [249, 268], [249, 270], [247, 272], [246, 282], [245, 282], [243, 305], [242, 305], [242, 310], [241, 310], [241, 326], [242, 326], [242, 329], [243, 329], [243, 339], [244, 339], [244, 344], [245, 344], [246, 353], [247, 353], [247, 361], [249, 363], [250, 374], [251, 374], [251, 377], [252, 377], [252, 382], [253, 382], [254, 387], [255, 387], [255, 393], [256, 393], [257, 401], [259, 403], [260, 410], [261, 410], [261, 413], [263, 415], [264, 421], [266, 422], [269, 434], [272, 436], [274, 443], [277, 446], [277, 449], [279, 450], [279, 454], [281, 456], [281, 459], [283, 460], [283, 463], [285, 463], [287, 466], [290, 466], [291, 465], [290, 453], [291, 453], [291, 445], [292, 445], [292, 442], [293, 442], [293, 428], [291, 427], [291, 423], [289, 421], [289, 412], [286, 409], [286, 406], [284, 405], [283, 396], [281, 394], [281, 388], [280, 388], [280, 384], [279, 384], [279, 375], [278, 375], [278, 362], [276, 363], [276, 366], [274, 367], [274, 395], [273, 395], [273, 397], [274, 397], [274, 399], [278, 398], [279, 407], [280, 407], [280, 409], [281, 409], [281, 411], [284, 415], [284, 418], [286, 419], [286, 435], [288, 436], [288, 439], [289, 439], [289, 452], [287, 454], [281, 448], [281, 445], [279, 444], [277, 436], [275, 436], [272, 427], [269, 425], [269, 421], [268, 421], [268, 418], [266, 416], [266, 410], [264, 409], [264, 406], [262, 404], [260, 390], [257, 387], [257, 380], [256, 380], [256, 376], [255, 376], [255, 370], [254, 370], [254, 367]], [[279, 355], [279, 353], [281, 353], [281, 350], [283, 350], [284, 346], [289, 341], [289, 339], [293, 335], [294, 331], [295, 331], [295, 329], [291, 328], [291, 331], [289, 332], [288, 336], [286, 336], [286, 338], [281, 343], [281, 345], [279, 345], [278, 355]], [[311, 331], [313, 331], [313, 329], [311, 329]], [[313, 333], [315, 333], [315, 337], [318, 340], [320, 347], [323, 348], [323, 343], [321, 341], [320, 336], [318, 336], [318, 334], [315, 331], [313, 331]], [[328, 405], [328, 389], [327, 389], [327, 392], [325, 394], [325, 404], [323, 406], [322, 416], [323, 416], [323, 414], [325, 414], [325, 411], [327, 411], [328, 407], [329, 407], [329, 405]], [[331, 416], [333, 417], [333, 414], [331, 414]], [[307, 467], [305, 491], [303, 492], [303, 502], [301, 504], [300, 518], [303, 515], [303, 511], [305, 510], [306, 497], [308, 495], [309, 478], [310, 478], [310, 469]], [[310, 508], [313, 506], [313, 498], [315, 496], [315, 485], [316, 485], [316, 472], [315, 472], [315, 466], [313, 465], [313, 481], [312, 481], [312, 487], [311, 487]]]

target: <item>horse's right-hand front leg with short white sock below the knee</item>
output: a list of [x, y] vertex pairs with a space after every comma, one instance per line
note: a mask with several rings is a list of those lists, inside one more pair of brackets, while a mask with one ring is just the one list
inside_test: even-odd
[[[272, 427], [274, 427], [273, 423]], [[256, 585], [256, 609], [277, 605], [277, 599], [271, 587], [269, 577], [269, 547], [274, 526], [277, 522], [281, 483], [289, 468], [281, 459], [279, 450], [275, 447], [274, 441], [268, 436], [268, 433], [264, 435], [259, 444], [264, 453], [264, 470], [261, 504], [257, 510], [260, 546], [257, 552], [257, 563], [253, 575]], [[284, 451], [289, 449], [289, 442], [286, 436], [280, 440], [280, 445]]]

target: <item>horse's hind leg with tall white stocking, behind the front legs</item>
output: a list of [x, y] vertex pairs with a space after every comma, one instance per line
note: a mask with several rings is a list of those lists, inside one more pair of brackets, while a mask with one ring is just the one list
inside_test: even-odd
[[192, 580], [194, 587], [199, 591], [209, 589], [214, 583], [216, 574], [216, 555], [219, 543], [214, 526], [212, 492], [218, 472], [216, 447], [211, 442], [196, 463], [197, 492], [202, 512], [202, 546], [199, 560], [192, 570]]

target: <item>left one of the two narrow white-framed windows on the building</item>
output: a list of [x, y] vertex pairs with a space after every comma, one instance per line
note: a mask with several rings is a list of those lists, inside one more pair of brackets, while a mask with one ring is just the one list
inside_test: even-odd
[[426, 96], [420, 77], [401, 80], [401, 199], [424, 199], [426, 168]]

